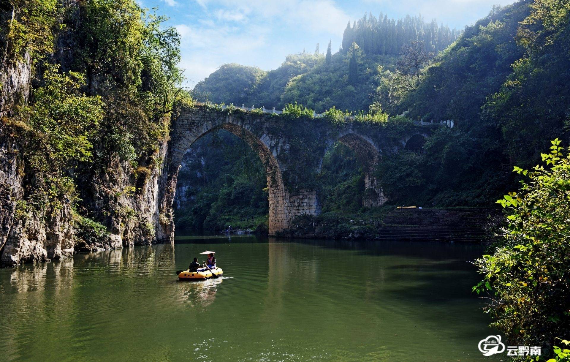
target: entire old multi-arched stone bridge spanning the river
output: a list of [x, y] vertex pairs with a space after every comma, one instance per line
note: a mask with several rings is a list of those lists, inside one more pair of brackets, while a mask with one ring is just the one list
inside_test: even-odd
[[[209, 132], [225, 129], [241, 137], [259, 155], [267, 175], [269, 234], [291, 226], [302, 214], [318, 215], [315, 176], [325, 152], [336, 141], [353, 149], [365, 170], [364, 206], [384, 204], [386, 197], [374, 176], [385, 154], [404, 148], [409, 139], [427, 137], [435, 125], [412, 121], [370, 123], [347, 117], [292, 117], [209, 105], [178, 108], [174, 117], [161, 188], [161, 209], [172, 210], [178, 169], [192, 144]], [[170, 214], [172, 211], [170, 211]], [[172, 229], [173, 230], [173, 229]]]

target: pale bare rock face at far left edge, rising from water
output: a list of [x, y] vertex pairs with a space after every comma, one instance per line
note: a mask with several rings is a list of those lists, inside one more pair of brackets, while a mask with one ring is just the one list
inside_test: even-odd
[[[6, 14], [4, 14], [6, 17]], [[22, 200], [26, 193], [21, 141], [11, 124], [13, 107], [26, 103], [30, 90], [30, 57], [4, 62], [0, 71], [0, 265], [45, 261], [72, 254], [71, 208], [28, 214]], [[31, 185], [27, 185], [31, 186]]]

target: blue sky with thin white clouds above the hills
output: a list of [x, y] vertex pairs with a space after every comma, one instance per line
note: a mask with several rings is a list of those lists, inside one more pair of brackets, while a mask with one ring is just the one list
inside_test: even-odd
[[225, 63], [279, 67], [287, 54], [313, 52], [316, 43], [339, 50], [347, 22], [382, 11], [390, 18], [421, 14], [426, 20], [463, 29], [484, 17], [492, 5], [514, 0], [139, 0], [158, 6], [181, 34], [181, 67], [186, 86]]

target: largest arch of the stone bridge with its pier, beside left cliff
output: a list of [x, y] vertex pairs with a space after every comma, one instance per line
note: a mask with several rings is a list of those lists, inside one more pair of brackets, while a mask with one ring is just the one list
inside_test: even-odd
[[[263, 116], [259, 116], [263, 117]], [[235, 115], [208, 112], [203, 109], [183, 108], [180, 110], [171, 131], [168, 152], [168, 180], [166, 183], [164, 209], [170, 209], [176, 192], [178, 169], [182, 157], [196, 140], [217, 129], [225, 129], [240, 137], [258, 154], [262, 161], [268, 187], [269, 234], [275, 235], [288, 229], [292, 219], [300, 214], [316, 215], [320, 213], [320, 204], [314, 190], [287, 188], [283, 182], [284, 166], [280, 164], [278, 152], [287, 149], [287, 145], [274, 139], [263, 123], [244, 119]], [[173, 233], [172, 230], [166, 232]]]

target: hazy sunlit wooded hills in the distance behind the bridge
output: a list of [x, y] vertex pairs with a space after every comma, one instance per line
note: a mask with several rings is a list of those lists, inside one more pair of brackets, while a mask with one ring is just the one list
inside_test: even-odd
[[[356, 112], [368, 109], [380, 85], [382, 67], [392, 69], [402, 47], [410, 42], [425, 42], [431, 55], [446, 48], [459, 31], [426, 23], [421, 17], [388, 19], [365, 15], [344, 32], [339, 52], [288, 55], [285, 62], [269, 72], [259, 68], [225, 64], [194, 87], [198, 100], [214, 103], [246, 104], [249, 107], [275, 107], [297, 101], [323, 112], [331, 107]], [[355, 43], [353, 45], [353, 43]]]

